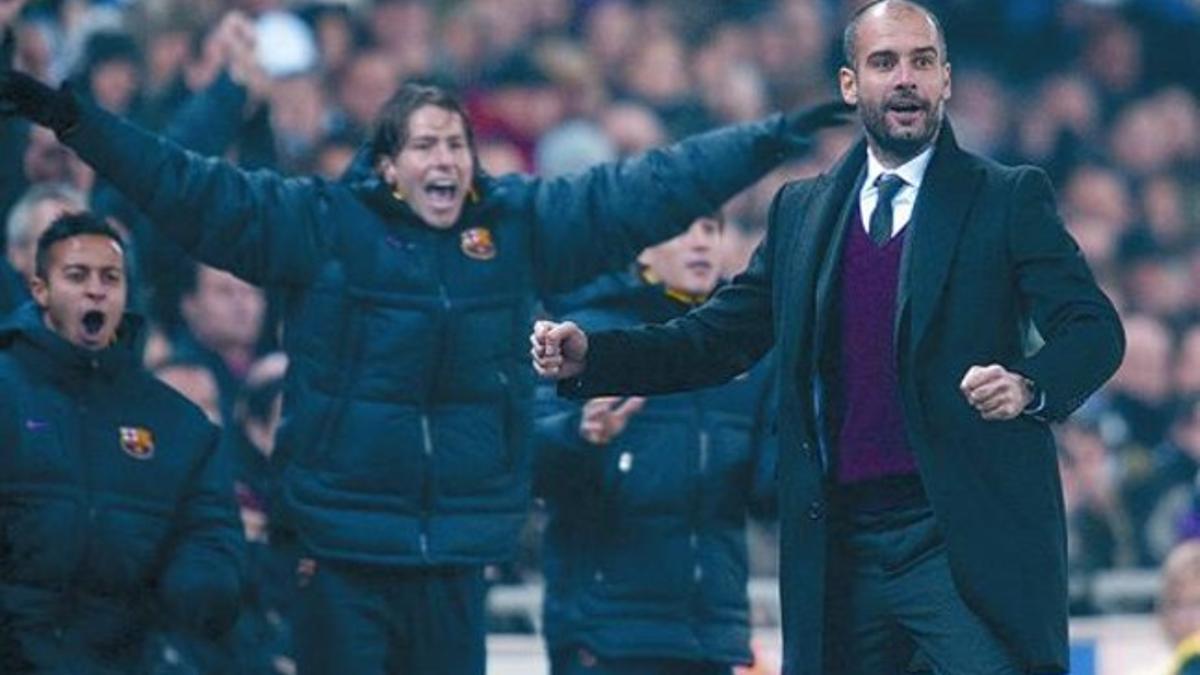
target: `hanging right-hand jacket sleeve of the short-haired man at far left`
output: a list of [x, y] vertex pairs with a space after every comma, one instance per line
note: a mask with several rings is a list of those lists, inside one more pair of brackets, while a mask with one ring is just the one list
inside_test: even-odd
[[238, 617], [244, 544], [233, 472], [217, 430], [209, 431], [208, 452], [175, 515], [158, 593], [173, 625], [216, 635]]

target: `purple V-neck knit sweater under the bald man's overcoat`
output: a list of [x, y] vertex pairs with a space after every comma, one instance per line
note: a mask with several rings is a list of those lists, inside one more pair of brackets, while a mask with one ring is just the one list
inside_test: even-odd
[[908, 228], [878, 247], [864, 231], [858, 209], [848, 226], [841, 258], [838, 482], [859, 484], [917, 473], [892, 340]]

